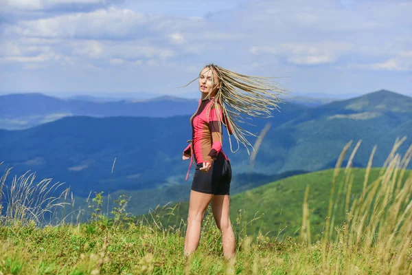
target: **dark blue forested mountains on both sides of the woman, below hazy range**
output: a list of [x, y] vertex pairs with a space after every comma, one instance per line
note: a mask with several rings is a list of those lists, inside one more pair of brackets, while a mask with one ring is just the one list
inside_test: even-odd
[[[366, 166], [375, 144], [374, 166], [380, 166], [396, 137], [412, 136], [411, 104], [412, 98], [389, 91], [314, 108], [287, 102], [273, 118], [255, 119], [256, 126], [248, 128], [259, 133], [271, 123], [253, 168], [244, 148], [230, 152], [226, 133], [223, 148], [233, 173], [275, 175], [332, 168], [348, 141], [363, 140], [355, 166]], [[0, 161], [5, 161], [3, 167], [13, 166], [16, 175], [36, 170], [40, 178], [65, 181], [81, 196], [108, 186], [111, 190], [143, 190], [181, 184], [189, 165], [181, 161], [191, 137], [189, 118], [73, 116], [21, 131], [1, 130]], [[255, 138], [249, 140], [255, 142]], [[400, 150], [408, 144], [409, 140]]]

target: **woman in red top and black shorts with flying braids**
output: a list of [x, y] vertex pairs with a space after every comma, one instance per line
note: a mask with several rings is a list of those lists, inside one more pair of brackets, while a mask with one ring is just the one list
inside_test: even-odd
[[[245, 76], [214, 64], [206, 65], [198, 76], [202, 97], [190, 118], [192, 140], [188, 141], [190, 144], [182, 157], [183, 160], [190, 158], [190, 167], [193, 158], [196, 162], [187, 217], [186, 256], [198, 247], [201, 224], [209, 203], [222, 234], [225, 258], [231, 259], [235, 254], [235, 236], [229, 217], [231, 164], [222, 151], [222, 124], [227, 128], [229, 141], [233, 135], [238, 145], [240, 142], [246, 148], [251, 146], [244, 135], [253, 133], [242, 129], [236, 122], [242, 122], [240, 115], [271, 116], [271, 111], [277, 108], [281, 100], [270, 91], [280, 93], [284, 90], [271, 85], [267, 79]], [[189, 171], [186, 180], [188, 175]]]

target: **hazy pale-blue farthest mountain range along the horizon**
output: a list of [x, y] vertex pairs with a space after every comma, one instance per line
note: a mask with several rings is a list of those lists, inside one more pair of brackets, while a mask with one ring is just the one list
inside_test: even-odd
[[[125, 93], [120, 94], [125, 95]], [[139, 94], [140, 95], [140, 94]], [[29, 129], [46, 122], [76, 115], [95, 118], [111, 116], [134, 116], [167, 118], [174, 115], [192, 115], [198, 100], [157, 96], [155, 98], [115, 98], [109, 96], [71, 96], [58, 98], [45, 94], [8, 94], [0, 96], [0, 129]], [[317, 107], [332, 102], [333, 98], [309, 98], [287, 96], [287, 102]]]

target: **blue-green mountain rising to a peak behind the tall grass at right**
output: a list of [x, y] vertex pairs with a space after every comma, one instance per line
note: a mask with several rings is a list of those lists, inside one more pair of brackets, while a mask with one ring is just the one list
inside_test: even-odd
[[[324, 170], [336, 163], [349, 140], [363, 140], [354, 166], [366, 167], [375, 144], [374, 166], [382, 166], [397, 137], [411, 137], [412, 98], [376, 91], [306, 110], [273, 127], [265, 136], [255, 162], [259, 173]], [[404, 142], [400, 151], [411, 144]], [[354, 145], [352, 145], [352, 148]]]

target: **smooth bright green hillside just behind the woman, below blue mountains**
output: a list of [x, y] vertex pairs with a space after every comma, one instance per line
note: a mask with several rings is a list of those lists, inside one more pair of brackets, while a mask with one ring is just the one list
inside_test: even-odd
[[[378, 178], [380, 170], [381, 168], [371, 168], [368, 185]], [[354, 176], [350, 192], [352, 199], [362, 193], [365, 172], [365, 168], [352, 168]], [[260, 217], [247, 225], [248, 234], [258, 234], [261, 230], [263, 234], [270, 231], [268, 233], [270, 236], [277, 234], [282, 238], [284, 236], [297, 236], [302, 224], [305, 190], [306, 186], [309, 186], [310, 229], [314, 239], [317, 239], [321, 236], [325, 217], [328, 215], [333, 173], [334, 169], [328, 169], [295, 175], [233, 195], [231, 196], [231, 221], [232, 223], [236, 221], [239, 210], [241, 210], [244, 221]], [[407, 178], [410, 173], [411, 170], [407, 170], [404, 178]], [[336, 178], [336, 192], [342, 186], [344, 179], [345, 169], [341, 168], [339, 177]], [[336, 212], [335, 225], [339, 225], [343, 221], [345, 211], [342, 202], [345, 201], [345, 196], [346, 194], [343, 194], [340, 199], [341, 203], [339, 203]], [[180, 203], [178, 217], [173, 217], [169, 223], [179, 221], [181, 217], [187, 219], [187, 210], [188, 202]], [[165, 222], [166, 217], [163, 222]]]

